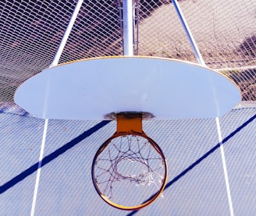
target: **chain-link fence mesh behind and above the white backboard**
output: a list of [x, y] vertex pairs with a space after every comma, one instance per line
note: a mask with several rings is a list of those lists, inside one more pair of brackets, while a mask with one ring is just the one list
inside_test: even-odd
[[[171, 1], [138, 5], [137, 52], [196, 62]], [[0, 2], [0, 102], [13, 102], [22, 82], [51, 64], [76, 0]], [[256, 95], [256, 2], [181, 0], [190, 30], [210, 68], [229, 75], [243, 100]], [[123, 54], [122, 0], [84, 1], [59, 63]]]

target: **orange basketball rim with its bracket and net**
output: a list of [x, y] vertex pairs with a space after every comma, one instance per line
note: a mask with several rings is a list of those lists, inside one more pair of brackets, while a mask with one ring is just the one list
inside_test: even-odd
[[162, 194], [167, 164], [161, 148], [142, 131], [142, 113], [119, 113], [116, 120], [116, 133], [94, 156], [92, 179], [106, 203], [138, 210]]

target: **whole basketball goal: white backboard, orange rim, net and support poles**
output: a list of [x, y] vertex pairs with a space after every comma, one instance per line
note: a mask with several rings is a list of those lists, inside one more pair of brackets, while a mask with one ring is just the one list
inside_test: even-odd
[[[101, 198], [122, 210], [151, 204], [167, 181], [165, 156], [142, 130], [142, 119], [220, 117], [240, 101], [237, 85], [203, 64], [189, 30], [200, 64], [133, 56], [133, 3], [123, 1], [124, 56], [52, 64], [20, 85], [14, 96], [34, 117], [116, 119], [116, 133], [96, 152], [91, 174]], [[187, 29], [186, 23], [183, 26]]]

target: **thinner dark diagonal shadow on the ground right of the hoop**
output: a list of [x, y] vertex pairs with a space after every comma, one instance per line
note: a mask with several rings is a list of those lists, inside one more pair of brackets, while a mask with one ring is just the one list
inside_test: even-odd
[[[237, 127], [236, 130], [231, 132], [226, 138], [224, 138], [222, 140], [222, 144], [224, 145], [227, 141], [229, 141], [230, 138], [233, 138], [233, 136], [235, 134], [240, 132], [244, 127], [247, 127], [247, 125], [250, 124], [254, 119], [256, 119], [256, 114], [253, 117], [251, 117], [249, 120], [244, 122], [244, 124], [240, 125], [240, 127]], [[201, 158], [197, 159], [197, 161], [195, 161], [190, 166], [188, 166], [187, 169], [184, 169], [183, 172], [180, 172], [180, 174], [178, 176], [174, 177], [171, 181], [169, 181], [169, 183], [166, 184], [165, 190], [167, 188], [169, 188], [170, 186], [172, 186], [173, 183], [176, 183], [176, 181], [178, 181], [181, 177], [185, 176], [187, 174], [187, 172], [190, 172], [191, 169], [194, 169], [194, 167], [196, 165], [198, 165], [199, 163], [201, 163], [204, 159], [207, 159], [209, 155], [212, 155], [212, 153], [215, 152], [220, 147], [220, 145], [221, 145], [221, 143], [219, 142], [212, 149], [210, 149], [203, 156], [201, 156]], [[151, 200], [152, 197], [154, 197], [154, 196], [155, 196], [155, 194], [153, 194], [148, 200]], [[144, 203], [148, 202], [148, 200], [145, 200]], [[139, 210], [137, 210], [137, 211], [139, 211]], [[130, 212], [130, 214], [127, 214], [127, 216], [131, 216], [133, 214], [136, 214], [137, 211], [132, 211], [132, 212]]]

